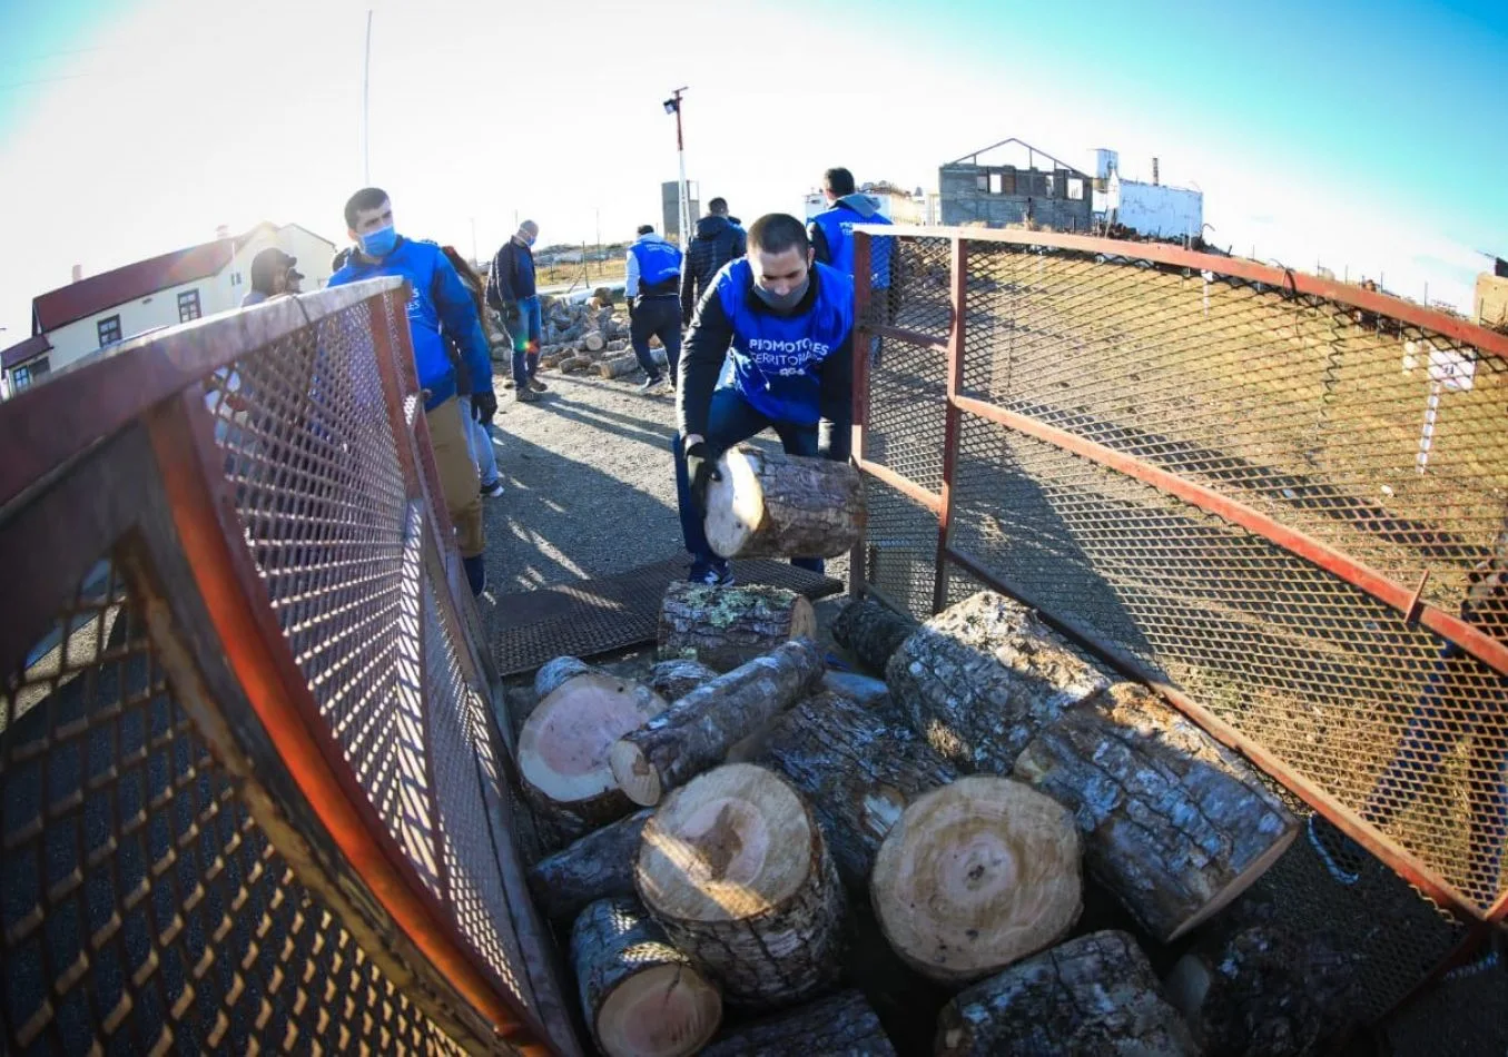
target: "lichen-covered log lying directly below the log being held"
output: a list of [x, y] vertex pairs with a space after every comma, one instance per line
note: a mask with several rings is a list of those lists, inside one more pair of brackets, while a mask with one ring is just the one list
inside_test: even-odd
[[816, 638], [817, 614], [778, 587], [674, 582], [661, 602], [659, 656], [730, 671], [793, 638]]

